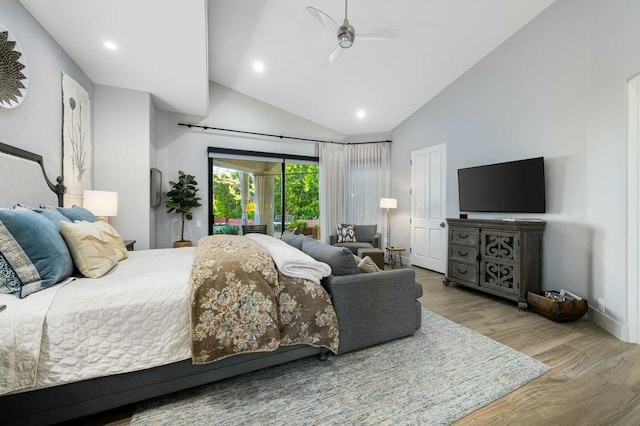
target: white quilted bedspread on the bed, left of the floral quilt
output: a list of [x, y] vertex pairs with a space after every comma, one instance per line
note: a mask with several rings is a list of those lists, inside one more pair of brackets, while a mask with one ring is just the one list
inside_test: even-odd
[[[130, 252], [102, 278], [39, 292], [57, 293], [44, 322], [34, 388], [190, 358], [194, 253], [195, 247]], [[39, 293], [21, 302], [36, 302]]]

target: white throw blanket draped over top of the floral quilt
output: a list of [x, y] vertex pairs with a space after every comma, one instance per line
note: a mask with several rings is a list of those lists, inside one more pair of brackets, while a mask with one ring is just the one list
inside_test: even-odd
[[247, 234], [245, 237], [267, 249], [280, 272], [288, 277], [304, 278], [320, 284], [323, 277], [331, 275], [329, 265], [318, 262], [282, 240], [264, 234]]

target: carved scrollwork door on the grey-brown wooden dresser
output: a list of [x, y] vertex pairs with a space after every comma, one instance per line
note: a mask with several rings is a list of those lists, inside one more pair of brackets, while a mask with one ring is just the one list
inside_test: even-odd
[[482, 230], [480, 232], [480, 285], [509, 294], [518, 294], [517, 232]]

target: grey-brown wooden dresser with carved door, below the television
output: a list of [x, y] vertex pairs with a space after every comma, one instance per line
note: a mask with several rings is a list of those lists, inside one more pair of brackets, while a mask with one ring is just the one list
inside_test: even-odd
[[527, 308], [527, 292], [542, 288], [542, 221], [447, 219], [445, 285], [472, 287]]

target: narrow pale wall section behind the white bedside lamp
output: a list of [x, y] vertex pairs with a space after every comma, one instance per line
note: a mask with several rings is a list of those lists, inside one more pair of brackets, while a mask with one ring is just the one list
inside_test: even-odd
[[151, 115], [147, 92], [95, 87], [94, 187], [118, 192], [118, 216], [110, 222], [136, 249], [152, 247], [149, 174]]

